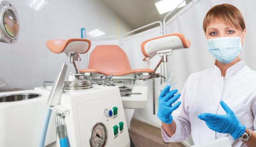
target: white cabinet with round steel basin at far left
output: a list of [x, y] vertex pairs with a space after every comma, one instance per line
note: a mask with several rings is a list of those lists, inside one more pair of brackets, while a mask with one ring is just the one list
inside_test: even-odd
[[[0, 93], [0, 147], [38, 146], [47, 99], [34, 90]], [[46, 144], [55, 140], [49, 134]]]

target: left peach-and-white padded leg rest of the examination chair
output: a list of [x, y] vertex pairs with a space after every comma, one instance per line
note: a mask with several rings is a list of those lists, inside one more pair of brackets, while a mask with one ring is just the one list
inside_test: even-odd
[[88, 39], [72, 38], [67, 40], [53, 39], [46, 42], [47, 47], [53, 53], [87, 53], [91, 42]]

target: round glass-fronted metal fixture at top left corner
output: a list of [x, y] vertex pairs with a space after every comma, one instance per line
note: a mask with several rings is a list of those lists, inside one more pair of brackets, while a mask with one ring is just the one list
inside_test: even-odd
[[18, 39], [18, 14], [13, 5], [7, 1], [0, 3], [0, 42], [15, 43]]

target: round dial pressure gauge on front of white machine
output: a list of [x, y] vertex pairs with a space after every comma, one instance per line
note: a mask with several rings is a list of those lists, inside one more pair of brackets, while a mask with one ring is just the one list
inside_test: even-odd
[[92, 126], [90, 132], [90, 145], [91, 147], [104, 147], [107, 141], [107, 130], [106, 126], [98, 122]]

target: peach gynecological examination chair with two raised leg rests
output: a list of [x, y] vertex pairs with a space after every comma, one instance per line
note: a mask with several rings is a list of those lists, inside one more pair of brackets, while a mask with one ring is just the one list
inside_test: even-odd
[[[98, 83], [102, 86], [119, 87], [129, 128], [135, 108], [144, 108], [148, 98], [148, 87], [138, 86], [135, 84], [135, 81], [158, 77], [165, 78], [166, 74], [156, 73], [158, 67], [161, 63], [166, 67], [167, 55], [171, 55], [173, 50], [188, 48], [190, 41], [185, 39], [183, 34], [179, 33], [167, 34], [144, 41], [141, 45], [142, 53], [145, 56], [143, 60], [150, 60], [155, 55], [161, 56], [161, 60], [154, 69], [132, 69], [128, 57], [121, 47], [118, 45], [97, 45], [90, 53], [88, 68], [79, 71], [75, 60], [78, 53], [88, 52], [90, 49], [89, 40], [50, 40], [47, 42], [47, 45], [48, 47], [51, 46], [49, 49], [53, 53], [63, 52], [70, 56], [70, 62], [74, 64], [76, 70], [76, 73], [72, 74], [75, 77], [73, 82], [77, 82], [77, 85], [83, 85], [80, 82], [84, 81], [83, 79], [88, 79], [92, 83]], [[83, 48], [86, 48], [86, 50]], [[166, 69], [162, 70], [162, 73], [165, 72]], [[69, 87], [69, 85], [66, 86]], [[155, 107], [155, 104], [153, 106]], [[155, 108], [153, 110], [155, 111]]]

